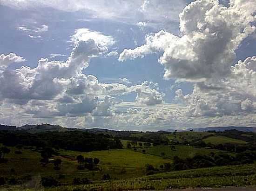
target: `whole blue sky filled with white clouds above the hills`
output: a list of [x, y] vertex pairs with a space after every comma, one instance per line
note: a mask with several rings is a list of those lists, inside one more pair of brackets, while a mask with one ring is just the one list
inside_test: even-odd
[[255, 0], [0, 0], [0, 124], [256, 126]]

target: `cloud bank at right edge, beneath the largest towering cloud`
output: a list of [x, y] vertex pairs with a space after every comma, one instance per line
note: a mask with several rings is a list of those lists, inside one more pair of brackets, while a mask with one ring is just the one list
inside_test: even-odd
[[256, 57], [230, 67], [222, 81], [195, 84], [192, 94], [176, 90], [176, 98], [189, 108], [191, 116], [244, 115], [256, 112]]

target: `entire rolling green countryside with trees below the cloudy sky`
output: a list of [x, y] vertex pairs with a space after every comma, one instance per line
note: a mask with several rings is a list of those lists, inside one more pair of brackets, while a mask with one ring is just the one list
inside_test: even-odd
[[239, 130], [0, 126], [0, 190], [254, 189], [256, 134]]

